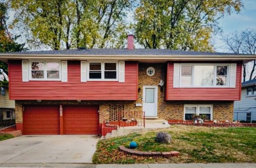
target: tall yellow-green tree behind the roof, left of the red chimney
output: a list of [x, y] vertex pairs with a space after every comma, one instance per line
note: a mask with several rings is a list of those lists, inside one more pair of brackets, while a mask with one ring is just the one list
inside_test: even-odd
[[[19, 25], [31, 47], [53, 50], [86, 46], [121, 46], [124, 17], [134, 0], [12, 0], [16, 11], [13, 25]], [[112, 41], [115, 38], [116, 41]]]

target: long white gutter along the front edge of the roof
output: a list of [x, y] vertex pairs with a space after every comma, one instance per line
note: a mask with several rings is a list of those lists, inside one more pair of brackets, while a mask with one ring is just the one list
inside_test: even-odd
[[125, 61], [252, 61], [256, 55], [75, 55], [75, 54], [0, 54], [0, 61], [13, 59], [121, 59]]

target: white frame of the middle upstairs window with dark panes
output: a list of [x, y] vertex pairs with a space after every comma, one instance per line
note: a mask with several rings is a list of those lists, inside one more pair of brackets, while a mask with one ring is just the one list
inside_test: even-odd
[[[101, 63], [101, 78], [90, 78], [90, 63]], [[104, 78], [105, 63], [116, 63], [116, 78]], [[118, 81], [118, 61], [87, 61], [87, 81]]]

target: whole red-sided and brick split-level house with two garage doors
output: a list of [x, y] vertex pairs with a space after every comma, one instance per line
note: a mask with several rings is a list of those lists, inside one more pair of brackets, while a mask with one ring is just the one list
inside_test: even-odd
[[117, 112], [146, 118], [232, 120], [242, 63], [256, 59], [181, 50], [75, 49], [0, 54], [9, 64], [16, 127], [31, 134], [97, 134]]

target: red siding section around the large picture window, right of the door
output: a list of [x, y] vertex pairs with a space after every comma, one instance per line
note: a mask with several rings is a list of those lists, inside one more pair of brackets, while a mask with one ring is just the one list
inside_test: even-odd
[[173, 63], [167, 63], [165, 100], [238, 101], [241, 93], [242, 63], [236, 66], [236, 88], [173, 88]]

